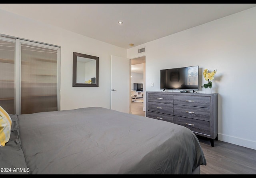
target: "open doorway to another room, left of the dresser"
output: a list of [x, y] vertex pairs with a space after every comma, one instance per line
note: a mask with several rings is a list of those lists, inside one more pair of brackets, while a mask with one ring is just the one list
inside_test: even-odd
[[130, 113], [140, 116], [146, 116], [145, 114], [145, 68], [146, 68], [146, 56], [133, 58], [130, 61], [131, 67], [131, 79], [130, 79], [130, 90], [131, 90], [131, 103]]

